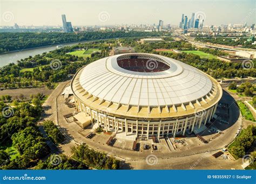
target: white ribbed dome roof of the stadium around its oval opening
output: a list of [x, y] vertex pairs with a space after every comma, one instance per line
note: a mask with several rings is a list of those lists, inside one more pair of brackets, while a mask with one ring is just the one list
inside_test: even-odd
[[[117, 60], [138, 55], [145, 61], [158, 60], [170, 68], [162, 72], [133, 72]], [[99, 59], [82, 69], [80, 85], [102, 100], [136, 106], [165, 106], [190, 103], [209, 95], [211, 79], [183, 62], [156, 54], [120, 54]]]

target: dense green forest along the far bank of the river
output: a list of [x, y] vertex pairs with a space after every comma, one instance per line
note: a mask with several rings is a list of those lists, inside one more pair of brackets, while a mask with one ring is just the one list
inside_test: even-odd
[[120, 38], [120, 37], [147, 37], [160, 36], [163, 32], [79, 32], [79, 33], [1, 33], [0, 53], [27, 48], [42, 47], [63, 43], [72, 43], [85, 40]]

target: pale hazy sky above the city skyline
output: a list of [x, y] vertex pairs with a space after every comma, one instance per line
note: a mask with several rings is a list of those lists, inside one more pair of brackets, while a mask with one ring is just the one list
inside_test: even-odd
[[181, 14], [205, 17], [205, 25], [256, 22], [254, 0], [0, 0], [0, 25], [62, 25], [61, 15], [76, 25], [178, 25]]

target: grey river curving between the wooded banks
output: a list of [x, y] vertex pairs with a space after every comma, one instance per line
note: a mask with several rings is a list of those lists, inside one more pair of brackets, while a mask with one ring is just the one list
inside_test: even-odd
[[[93, 41], [93, 40], [79, 41], [76, 43], [69, 43], [69, 44], [58, 44], [58, 45], [72, 46], [79, 43], [86, 43], [89, 41]], [[3, 67], [4, 65], [7, 65], [8, 63], [12, 63], [12, 62], [16, 63], [17, 60], [28, 58], [30, 55], [35, 56], [37, 54], [42, 54], [44, 52], [53, 51], [57, 48], [56, 46], [57, 45], [52, 45], [52, 46], [31, 48], [31, 49], [25, 49], [21, 51], [0, 54], [0, 67]]]

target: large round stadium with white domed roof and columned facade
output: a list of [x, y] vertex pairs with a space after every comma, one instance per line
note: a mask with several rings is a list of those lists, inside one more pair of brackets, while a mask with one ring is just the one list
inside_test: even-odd
[[71, 81], [78, 115], [136, 138], [185, 136], [210, 122], [222, 89], [213, 77], [165, 56], [127, 53], [79, 69]]

